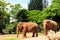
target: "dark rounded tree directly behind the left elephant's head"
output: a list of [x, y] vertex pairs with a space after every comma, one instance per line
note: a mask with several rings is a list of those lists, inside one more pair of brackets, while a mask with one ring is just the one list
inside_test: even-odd
[[18, 21], [21, 22], [26, 22], [27, 20], [27, 14], [28, 14], [28, 10], [26, 9], [21, 9], [18, 14], [17, 14], [17, 19]]

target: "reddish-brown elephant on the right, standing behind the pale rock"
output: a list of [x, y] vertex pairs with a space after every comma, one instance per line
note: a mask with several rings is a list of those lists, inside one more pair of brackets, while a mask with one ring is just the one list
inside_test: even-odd
[[48, 30], [57, 31], [58, 24], [53, 20], [43, 20], [44, 34], [47, 35]]

